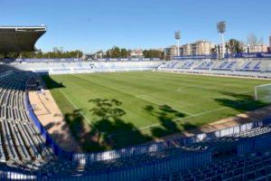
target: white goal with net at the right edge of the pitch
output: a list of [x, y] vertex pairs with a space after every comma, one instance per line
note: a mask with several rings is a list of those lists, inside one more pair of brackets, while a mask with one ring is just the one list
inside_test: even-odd
[[271, 103], [271, 84], [258, 85], [255, 87], [255, 100]]

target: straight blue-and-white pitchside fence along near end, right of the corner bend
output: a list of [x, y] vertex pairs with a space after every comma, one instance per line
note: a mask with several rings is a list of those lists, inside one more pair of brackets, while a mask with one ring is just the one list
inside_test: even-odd
[[139, 154], [145, 154], [145, 153], [154, 152], [154, 151], [163, 151], [168, 148], [175, 148], [176, 145], [188, 146], [193, 143], [204, 141], [204, 140], [230, 136], [242, 131], [265, 126], [269, 124], [270, 122], [271, 122], [271, 119], [263, 119], [263, 120], [258, 120], [255, 122], [250, 122], [243, 125], [231, 127], [229, 129], [221, 129], [221, 130], [213, 131], [210, 133], [197, 134], [192, 137], [176, 138], [176, 139], [171, 139], [164, 142], [147, 144], [143, 146], [134, 146], [130, 148], [122, 148], [118, 150], [110, 150], [110, 151], [104, 151], [104, 152], [99, 152], [99, 153], [83, 153], [83, 154], [74, 153], [72, 155], [72, 159], [75, 162], [90, 164], [96, 161], [105, 161], [108, 159], [115, 159], [118, 157], [132, 157]]

